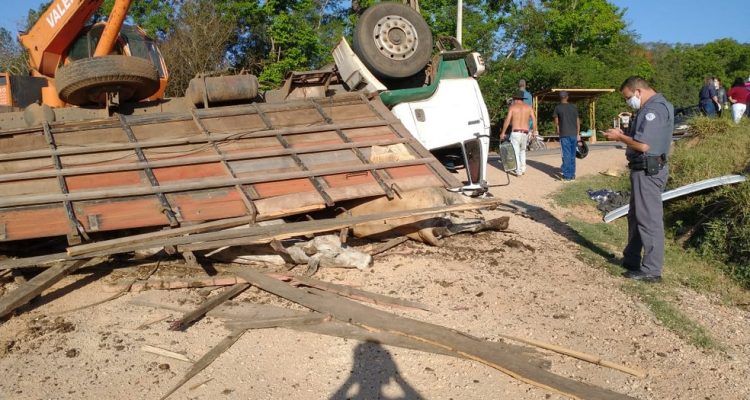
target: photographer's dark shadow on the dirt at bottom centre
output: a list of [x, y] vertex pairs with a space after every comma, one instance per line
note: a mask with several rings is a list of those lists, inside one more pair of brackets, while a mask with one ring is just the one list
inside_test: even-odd
[[365, 342], [355, 347], [352, 364], [349, 379], [331, 395], [330, 400], [423, 398], [401, 377], [391, 353], [378, 343]]

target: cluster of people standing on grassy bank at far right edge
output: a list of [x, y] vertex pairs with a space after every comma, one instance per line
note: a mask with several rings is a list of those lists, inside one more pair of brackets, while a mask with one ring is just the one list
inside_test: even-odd
[[708, 117], [721, 116], [724, 109], [731, 105], [732, 120], [738, 124], [743, 116], [750, 117], [750, 109], [747, 104], [750, 101], [750, 77], [747, 81], [736, 78], [729, 92], [724, 89], [721, 80], [707, 77], [701, 90], [698, 92], [698, 106], [703, 115]]

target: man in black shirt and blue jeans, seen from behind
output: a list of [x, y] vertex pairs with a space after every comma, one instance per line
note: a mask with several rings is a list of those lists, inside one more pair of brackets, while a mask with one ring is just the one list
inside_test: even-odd
[[568, 102], [568, 92], [560, 92], [560, 104], [555, 107], [553, 115], [562, 149], [562, 179], [572, 181], [576, 178], [576, 146], [581, 141], [581, 118], [575, 104]]

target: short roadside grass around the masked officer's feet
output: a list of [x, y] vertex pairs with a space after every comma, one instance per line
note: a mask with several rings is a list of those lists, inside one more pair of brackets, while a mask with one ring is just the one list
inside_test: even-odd
[[[591, 212], [598, 212], [594, 201], [586, 194], [587, 189], [627, 190], [628, 185], [627, 178], [623, 177], [584, 178], [566, 185], [553, 199], [562, 206], [589, 205]], [[590, 223], [575, 217], [568, 218], [566, 222], [579, 236], [577, 241], [582, 245], [579, 257], [584, 262], [604, 268], [612, 275], [624, 271], [619, 267], [619, 256], [627, 241], [627, 221], [624, 218], [610, 224]], [[717, 297], [728, 305], [747, 304], [750, 302], [750, 292], [724, 272], [726, 265], [706, 259], [698, 251], [686, 250], [671, 237], [667, 238], [666, 246], [662, 283], [650, 285], [627, 281], [622, 285], [623, 291], [637, 296], [661, 324], [691, 344], [704, 349], [721, 349], [720, 343], [679, 309], [675, 289], [687, 287]], [[607, 253], [613, 257], [602, 256]]]

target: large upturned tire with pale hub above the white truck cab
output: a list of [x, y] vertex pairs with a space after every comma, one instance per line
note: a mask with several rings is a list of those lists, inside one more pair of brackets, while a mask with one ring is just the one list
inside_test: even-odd
[[412, 8], [391, 2], [368, 8], [354, 27], [352, 48], [379, 78], [406, 78], [432, 55], [432, 32]]

